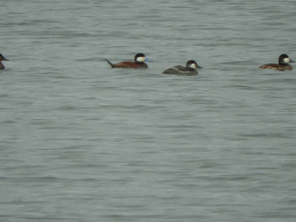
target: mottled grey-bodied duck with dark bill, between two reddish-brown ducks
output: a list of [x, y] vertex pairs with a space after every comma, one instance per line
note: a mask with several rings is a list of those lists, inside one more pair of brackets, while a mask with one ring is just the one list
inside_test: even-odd
[[197, 75], [198, 72], [195, 68], [200, 68], [194, 60], [189, 60], [186, 63], [186, 67], [177, 65], [172, 68], [163, 71], [163, 74], [175, 74], [175, 75]]

